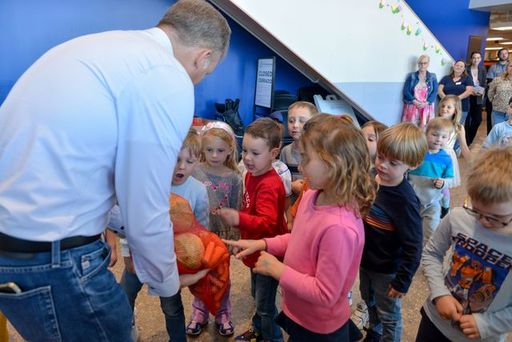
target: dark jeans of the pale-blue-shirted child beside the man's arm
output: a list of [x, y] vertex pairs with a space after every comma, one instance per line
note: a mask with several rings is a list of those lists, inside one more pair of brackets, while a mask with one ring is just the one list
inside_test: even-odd
[[[129, 272], [126, 268], [121, 277], [121, 286], [128, 296], [128, 302], [135, 308], [135, 299], [142, 288], [142, 283], [135, 273]], [[165, 316], [165, 328], [169, 335], [169, 341], [187, 341], [185, 333], [185, 311], [181, 301], [181, 291], [171, 297], [160, 297], [160, 308]]]

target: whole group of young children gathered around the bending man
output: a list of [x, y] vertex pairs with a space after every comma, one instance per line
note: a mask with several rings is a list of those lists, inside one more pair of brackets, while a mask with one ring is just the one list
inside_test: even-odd
[[[189, 132], [171, 191], [250, 270], [256, 310], [250, 329], [235, 340], [282, 341], [283, 328], [290, 341], [349, 341], [348, 295], [359, 273], [370, 318], [366, 339], [399, 341], [401, 298], [425, 244], [422, 265], [432, 296], [418, 339], [428, 340], [432, 329], [445, 340], [495, 340], [510, 330], [512, 149], [491, 149], [475, 160], [471, 206], [439, 223], [449, 207], [447, 189], [460, 183], [455, 140], [469, 156], [460, 114], [460, 100], [446, 96], [426, 132], [375, 121], [359, 129], [346, 117], [297, 102], [287, 118], [293, 143], [281, 151], [279, 123], [263, 118], [246, 128], [243, 178], [228, 125], [212, 122]], [[448, 273], [442, 268], [447, 250], [453, 253]], [[133, 307], [141, 285], [129, 257], [125, 265], [121, 283]], [[199, 335], [208, 324], [197, 298], [187, 324], [180, 293], [161, 298], [161, 307], [173, 341]], [[234, 334], [229, 291], [215, 325], [220, 335]]]

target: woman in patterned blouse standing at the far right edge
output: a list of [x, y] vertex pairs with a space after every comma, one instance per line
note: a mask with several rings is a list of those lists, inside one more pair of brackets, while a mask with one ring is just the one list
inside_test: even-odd
[[491, 82], [487, 96], [492, 102], [492, 127], [507, 121], [508, 101], [512, 97], [512, 63], [508, 63], [507, 71]]

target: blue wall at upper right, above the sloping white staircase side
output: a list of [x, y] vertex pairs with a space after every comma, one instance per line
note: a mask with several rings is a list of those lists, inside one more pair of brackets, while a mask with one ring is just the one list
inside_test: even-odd
[[[407, 0], [455, 60], [466, 60], [469, 36], [482, 36], [482, 56], [489, 13], [470, 10], [469, 0]], [[438, 75], [439, 76], [439, 75]]]

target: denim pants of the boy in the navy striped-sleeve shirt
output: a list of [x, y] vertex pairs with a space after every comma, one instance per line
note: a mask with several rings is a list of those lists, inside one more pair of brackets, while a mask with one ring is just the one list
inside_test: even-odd
[[360, 268], [359, 290], [368, 306], [369, 330], [382, 335], [381, 341], [400, 341], [402, 335], [402, 303], [386, 295], [395, 274], [384, 274]]

